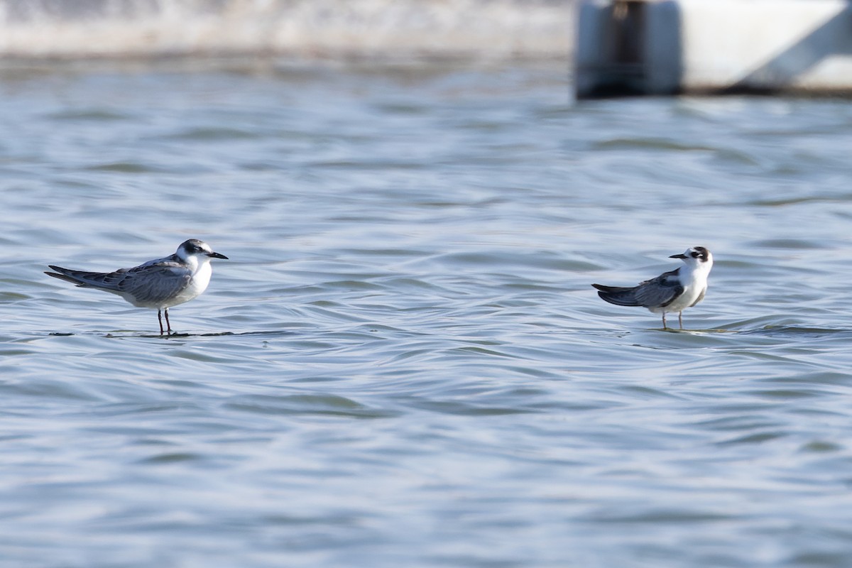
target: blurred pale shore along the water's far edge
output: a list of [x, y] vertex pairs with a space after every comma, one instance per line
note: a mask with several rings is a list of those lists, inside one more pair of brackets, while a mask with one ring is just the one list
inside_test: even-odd
[[554, 59], [572, 1], [3, 0], [0, 57]]

